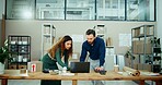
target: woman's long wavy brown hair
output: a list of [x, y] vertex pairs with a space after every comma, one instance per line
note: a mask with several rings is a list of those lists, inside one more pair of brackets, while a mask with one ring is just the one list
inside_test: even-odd
[[[72, 38], [67, 35], [63, 38], [61, 38], [56, 45], [54, 45], [48, 50], [48, 53], [50, 54], [50, 57], [51, 58], [55, 58], [55, 54], [56, 54], [56, 51], [57, 51], [58, 48], [61, 49], [61, 57], [62, 57], [63, 50], [66, 50], [65, 42], [68, 41], [68, 40], [71, 40], [72, 41]], [[71, 57], [72, 56], [72, 42], [71, 42], [71, 48], [69, 50], [67, 50], [67, 52], [68, 52], [68, 57]]]

